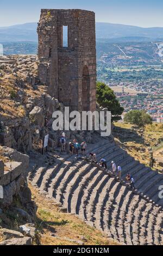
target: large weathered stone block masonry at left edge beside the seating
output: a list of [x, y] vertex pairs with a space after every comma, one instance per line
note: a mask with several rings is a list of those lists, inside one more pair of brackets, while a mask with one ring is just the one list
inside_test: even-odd
[[27, 186], [29, 156], [21, 154], [15, 149], [3, 147], [2, 156], [8, 162], [0, 160], [0, 186], [3, 187], [3, 199], [0, 208], [9, 207], [15, 196], [19, 196], [22, 204], [29, 210], [31, 217], [35, 216], [35, 204], [31, 199], [31, 192]]

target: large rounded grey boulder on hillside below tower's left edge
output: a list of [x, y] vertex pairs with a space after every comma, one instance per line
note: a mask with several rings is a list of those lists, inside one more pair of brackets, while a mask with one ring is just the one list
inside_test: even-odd
[[45, 117], [43, 115], [43, 110], [40, 107], [34, 107], [33, 110], [29, 113], [29, 119], [32, 123], [43, 127], [45, 123]]

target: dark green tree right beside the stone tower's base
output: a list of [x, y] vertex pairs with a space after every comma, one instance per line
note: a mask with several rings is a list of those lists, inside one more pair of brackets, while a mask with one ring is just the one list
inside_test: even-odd
[[105, 83], [97, 82], [96, 99], [100, 106], [108, 108], [112, 114], [112, 121], [120, 120], [124, 108], [121, 107], [120, 102], [116, 96]]

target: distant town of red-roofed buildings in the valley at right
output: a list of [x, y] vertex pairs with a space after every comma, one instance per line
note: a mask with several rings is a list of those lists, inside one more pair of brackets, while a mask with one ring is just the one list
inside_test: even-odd
[[158, 87], [156, 81], [148, 84], [140, 83], [123, 83], [115, 86], [109, 83], [124, 107], [124, 114], [131, 109], [145, 109], [154, 121], [163, 123], [163, 86]]

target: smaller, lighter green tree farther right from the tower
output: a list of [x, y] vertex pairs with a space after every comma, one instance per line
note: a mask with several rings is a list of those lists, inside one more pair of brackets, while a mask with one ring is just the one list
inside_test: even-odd
[[152, 124], [152, 117], [144, 110], [131, 110], [124, 116], [124, 121], [145, 129], [147, 124]]

